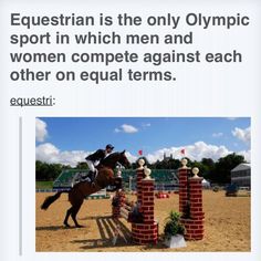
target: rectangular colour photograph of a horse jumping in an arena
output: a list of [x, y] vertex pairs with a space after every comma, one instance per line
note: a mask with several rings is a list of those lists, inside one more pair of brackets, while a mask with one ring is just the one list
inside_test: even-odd
[[35, 117], [36, 252], [250, 252], [250, 117]]

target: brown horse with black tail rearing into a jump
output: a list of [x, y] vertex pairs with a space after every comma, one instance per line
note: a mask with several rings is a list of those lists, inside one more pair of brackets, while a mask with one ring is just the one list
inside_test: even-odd
[[88, 181], [82, 181], [76, 184], [69, 191], [59, 191], [53, 196], [49, 196], [42, 203], [41, 209], [46, 210], [51, 203], [53, 203], [56, 199], [60, 198], [61, 194], [67, 192], [69, 201], [71, 202], [72, 207], [67, 210], [63, 223], [65, 227], [70, 227], [70, 225], [67, 223], [67, 219], [71, 216], [75, 226], [77, 228], [81, 228], [82, 226], [79, 225], [76, 220], [76, 215], [85, 197], [90, 196], [91, 194], [97, 192], [98, 190], [109, 185], [116, 186], [116, 189], [122, 186], [122, 178], [115, 178], [113, 171], [117, 163], [122, 164], [124, 167], [130, 166], [127, 157], [125, 156], [125, 150], [122, 153], [113, 153], [100, 163], [100, 165], [97, 166], [98, 174], [96, 179], [94, 180], [94, 184], [91, 184]]

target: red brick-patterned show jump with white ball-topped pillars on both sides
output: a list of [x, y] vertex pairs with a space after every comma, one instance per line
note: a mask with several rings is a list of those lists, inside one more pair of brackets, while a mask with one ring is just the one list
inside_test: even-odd
[[[113, 206], [113, 218], [125, 218], [132, 223], [132, 239], [138, 244], [157, 243], [158, 223], [154, 217], [154, 189], [155, 180], [150, 178], [150, 169], [144, 167], [144, 159], [138, 160], [136, 169], [137, 178], [137, 206], [143, 215], [143, 220], [134, 222], [129, 220], [133, 207], [126, 203], [123, 190], [116, 191], [117, 206]], [[179, 174], [179, 212], [181, 222], [186, 228], [186, 240], [201, 240], [203, 238], [203, 211], [202, 211], [202, 178], [198, 177], [198, 168], [187, 167], [187, 159], [181, 160], [182, 167]], [[194, 174], [194, 176], [191, 175]]]

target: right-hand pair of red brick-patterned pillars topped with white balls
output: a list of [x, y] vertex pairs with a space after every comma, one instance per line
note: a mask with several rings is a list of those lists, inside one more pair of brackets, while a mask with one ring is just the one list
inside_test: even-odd
[[181, 222], [186, 228], [186, 240], [201, 240], [203, 238], [203, 211], [202, 211], [202, 178], [198, 177], [198, 168], [188, 168], [187, 159], [181, 160], [179, 173], [179, 212]]

